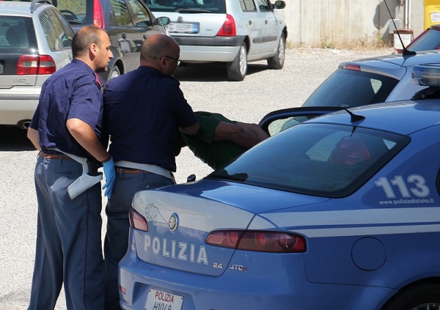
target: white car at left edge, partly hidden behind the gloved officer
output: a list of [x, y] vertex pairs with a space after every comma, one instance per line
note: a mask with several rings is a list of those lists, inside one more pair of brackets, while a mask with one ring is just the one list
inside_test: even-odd
[[74, 31], [49, 1], [0, 1], [0, 124], [29, 126], [41, 86], [72, 59]]

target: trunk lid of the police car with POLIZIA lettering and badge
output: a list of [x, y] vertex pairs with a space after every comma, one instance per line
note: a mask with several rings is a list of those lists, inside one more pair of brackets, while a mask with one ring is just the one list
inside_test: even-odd
[[[217, 183], [223, 187], [227, 186], [224, 182]], [[205, 241], [210, 232], [246, 230], [255, 217], [255, 210], [261, 212], [280, 207], [300, 206], [306, 202], [300, 199], [304, 195], [298, 195], [298, 201], [294, 199], [294, 202], [288, 202], [285, 192], [282, 195], [276, 190], [241, 185], [234, 187], [232, 184], [228, 188], [231, 195], [227, 195], [227, 202], [221, 200], [221, 188], [209, 188], [214, 187], [213, 181], [203, 184], [207, 186], [203, 192], [205, 197], [195, 197], [186, 192], [186, 188], [197, 190], [197, 184], [171, 186], [165, 188], [166, 191], [145, 190], [135, 195], [133, 208], [148, 223], [148, 232], [133, 230], [136, 252], [140, 260], [185, 272], [219, 276], [225, 268], [218, 266], [227, 266], [236, 250], [207, 244]], [[168, 191], [173, 189], [176, 192]], [[254, 199], [255, 194], [259, 192], [263, 193], [258, 196], [259, 199]], [[325, 200], [327, 199], [322, 197], [311, 197], [307, 202], [318, 203]], [[273, 201], [277, 201], [276, 206]]]

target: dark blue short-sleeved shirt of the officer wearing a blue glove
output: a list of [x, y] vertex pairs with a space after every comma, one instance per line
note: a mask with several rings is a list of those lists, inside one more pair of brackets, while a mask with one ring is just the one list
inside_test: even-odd
[[74, 58], [72, 63], [56, 71], [43, 83], [30, 127], [39, 131], [43, 150], [56, 147], [91, 159], [91, 155], [69, 133], [66, 122], [71, 118], [86, 122], [107, 146], [106, 137], [102, 134], [102, 114], [102, 91], [94, 70]]

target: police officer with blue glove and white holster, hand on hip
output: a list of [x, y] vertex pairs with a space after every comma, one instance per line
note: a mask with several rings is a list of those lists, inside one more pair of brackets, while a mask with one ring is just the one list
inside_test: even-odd
[[85, 26], [72, 40], [74, 59], [43, 84], [28, 137], [41, 150], [35, 167], [36, 255], [28, 309], [54, 309], [64, 283], [67, 309], [104, 309], [100, 183], [72, 199], [68, 187], [103, 164], [105, 195], [115, 179], [102, 131], [102, 92], [95, 72], [107, 70], [109, 36]]

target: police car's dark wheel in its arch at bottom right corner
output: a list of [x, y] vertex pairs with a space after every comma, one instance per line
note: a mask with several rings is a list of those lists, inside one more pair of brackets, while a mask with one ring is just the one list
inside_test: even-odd
[[438, 310], [440, 309], [440, 285], [428, 283], [409, 287], [397, 293], [382, 310]]

